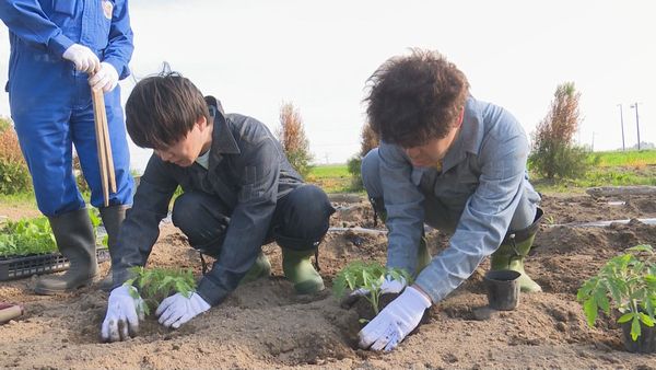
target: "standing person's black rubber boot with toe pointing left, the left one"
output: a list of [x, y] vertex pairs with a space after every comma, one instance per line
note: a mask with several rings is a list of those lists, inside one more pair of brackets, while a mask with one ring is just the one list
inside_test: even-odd
[[45, 276], [36, 281], [37, 294], [56, 294], [93, 281], [97, 274], [95, 235], [86, 208], [48, 217], [59, 252], [70, 261], [61, 276]]

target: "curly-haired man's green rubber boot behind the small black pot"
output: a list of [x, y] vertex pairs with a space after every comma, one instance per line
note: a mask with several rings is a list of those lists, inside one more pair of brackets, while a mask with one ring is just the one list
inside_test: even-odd
[[492, 270], [512, 269], [522, 274], [519, 276], [519, 287], [523, 292], [542, 291], [542, 288], [524, 270], [524, 261], [536, 239], [541, 218], [542, 210], [538, 208], [534, 223], [524, 230], [508, 232], [501, 246], [492, 254], [490, 261]]

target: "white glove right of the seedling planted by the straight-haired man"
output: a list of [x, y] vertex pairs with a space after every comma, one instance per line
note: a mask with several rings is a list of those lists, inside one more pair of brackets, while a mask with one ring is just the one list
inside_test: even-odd
[[175, 293], [160, 303], [155, 315], [160, 317], [160, 324], [178, 328], [209, 309], [210, 304], [197, 293], [192, 293], [189, 298]]

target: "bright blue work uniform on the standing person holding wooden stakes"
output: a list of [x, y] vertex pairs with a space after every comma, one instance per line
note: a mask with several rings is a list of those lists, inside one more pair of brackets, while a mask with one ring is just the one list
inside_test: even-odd
[[[11, 116], [30, 167], [39, 210], [58, 216], [84, 207], [72, 172], [72, 144], [91, 187], [91, 204], [103, 205], [89, 74], [62, 58], [73, 44], [129, 76], [132, 31], [128, 1], [2, 0], [11, 55], [7, 92]], [[117, 192], [110, 205], [129, 205], [133, 181], [120, 88], [105, 94]]]

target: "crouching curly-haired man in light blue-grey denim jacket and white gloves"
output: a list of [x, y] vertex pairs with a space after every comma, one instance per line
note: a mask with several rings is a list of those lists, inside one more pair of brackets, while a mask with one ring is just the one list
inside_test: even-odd
[[[367, 116], [380, 146], [363, 159], [362, 177], [389, 229], [387, 266], [415, 281], [386, 279], [384, 292], [402, 293], [360, 332], [360, 346], [394, 349], [490, 255], [492, 269], [517, 270], [523, 291], [540, 291], [524, 270], [542, 211], [519, 123], [473, 99], [465, 74], [435, 51], [394, 57], [370, 83]], [[434, 258], [424, 223], [452, 234]]]

